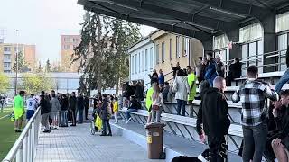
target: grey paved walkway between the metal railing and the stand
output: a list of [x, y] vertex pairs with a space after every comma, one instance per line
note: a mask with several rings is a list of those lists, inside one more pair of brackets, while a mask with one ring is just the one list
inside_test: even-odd
[[144, 148], [120, 136], [91, 135], [89, 123], [40, 134], [36, 162], [146, 162]]

